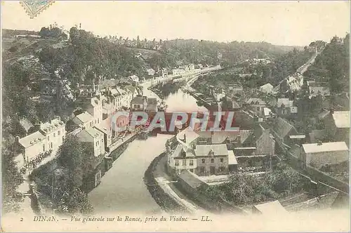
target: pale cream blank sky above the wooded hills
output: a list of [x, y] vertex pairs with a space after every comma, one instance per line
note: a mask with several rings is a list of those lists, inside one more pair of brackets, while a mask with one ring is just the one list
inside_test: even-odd
[[54, 22], [100, 36], [306, 46], [350, 32], [350, 2], [55, 1], [34, 19], [18, 1], [1, 2], [2, 28], [39, 31]]

